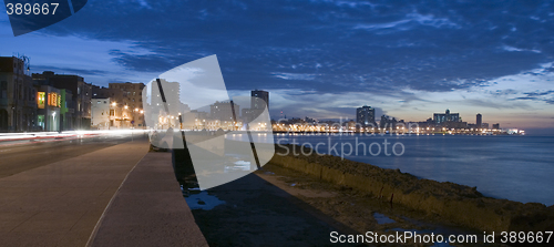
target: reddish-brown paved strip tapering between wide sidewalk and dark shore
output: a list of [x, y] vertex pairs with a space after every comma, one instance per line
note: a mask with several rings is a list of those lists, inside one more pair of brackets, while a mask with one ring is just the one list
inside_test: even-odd
[[171, 153], [144, 156], [113, 198], [92, 246], [208, 246], [171, 161]]

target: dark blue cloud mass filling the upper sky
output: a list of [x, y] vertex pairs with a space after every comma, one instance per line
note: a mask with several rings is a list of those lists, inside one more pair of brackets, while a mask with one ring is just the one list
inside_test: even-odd
[[[548, 1], [89, 1], [45, 32], [134, 41], [129, 70], [217, 54], [228, 89], [463, 90], [554, 56]], [[530, 95], [531, 96], [531, 95]]]

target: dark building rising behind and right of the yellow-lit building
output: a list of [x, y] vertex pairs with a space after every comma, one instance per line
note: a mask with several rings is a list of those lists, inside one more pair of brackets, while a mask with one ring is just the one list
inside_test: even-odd
[[33, 73], [32, 79], [41, 85], [50, 85], [60, 90], [71, 92], [74, 105], [74, 114], [71, 123], [75, 130], [88, 130], [91, 126], [91, 99], [92, 84], [84, 82], [84, 79], [74, 74], [55, 74], [52, 71], [44, 71], [42, 74]]

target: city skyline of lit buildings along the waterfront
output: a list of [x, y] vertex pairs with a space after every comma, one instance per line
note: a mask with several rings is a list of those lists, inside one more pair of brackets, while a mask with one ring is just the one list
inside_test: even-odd
[[[3, 59], [14, 59], [17, 61], [23, 62], [23, 60], [21, 60], [21, 58], [18, 59], [18, 58], [14, 58], [14, 56], [11, 56], [11, 58], [10, 56], [3, 56]], [[27, 59], [27, 58], [22, 58], [22, 59]], [[24, 68], [28, 68], [27, 63], [24, 63], [23, 65], [24, 65]], [[25, 73], [30, 74], [30, 71], [27, 71]], [[25, 75], [25, 76], [29, 76], [29, 75]], [[173, 75], [173, 76], [175, 79], [177, 78], [175, 75]], [[90, 88], [89, 90], [86, 90], [86, 95], [92, 101], [95, 101], [95, 100], [112, 100], [113, 101], [113, 105], [112, 105], [112, 103], [107, 104], [104, 101], [104, 104], [106, 104], [107, 107], [105, 107], [105, 109], [98, 109], [98, 111], [101, 111], [101, 112], [103, 112], [103, 111], [113, 111], [115, 107], [110, 107], [110, 106], [115, 106], [115, 104], [119, 103], [119, 105], [121, 105], [121, 109], [123, 109], [123, 106], [124, 106], [125, 111], [127, 110], [127, 106], [130, 106], [130, 109], [129, 109], [130, 112], [133, 110], [132, 111], [133, 113], [136, 113], [136, 114], [142, 113], [142, 111], [141, 111], [142, 107], [143, 107], [142, 106], [142, 99], [140, 99], [140, 101], [137, 99], [133, 99], [132, 102], [131, 102], [131, 99], [127, 99], [127, 97], [131, 94], [132, 94], [133, 97], [135, 97], [135, 96], [142, 97], [141, 96], [142, 95], [142, 88], [144, 86], [144, 83], [132, 83], [132, 82], [117, 83], [117, 82], [111, 82], [111, 83], [109, 83], [109, 88], [104, 88], [104, 86], [99, 86], [99, 85], [85, 82], [84, 78], [80, 76], [79, 74], [57, 74], [53, 71], [43, 71], [42, 73], [32, 73], [32, 80], [39, 82], [39, 84], [37, 84], [35, 86], [40, 86], [42, 84], [55, 84], [55, 83], [52, 83], [52, 82], [48, 83], [48, 80], [50, 78], [75, 79], [76, 81], [74, 81], [74, 83], [73, 83], [74, 85], [72, 83], [70, 83], [70, 84], [66, 84], [66, 85], [63, 85], [63, 86], [70, 86], [70, 88], [71, 86], [76, 86], [78, 85], [76, 83], [81, 82], [82, 85], [86, 85], [88, 88]], [[30, 79], [31, 79], [31, 76], [29, 76], [29, 80]], [[177, 85], [175, 83], [177, 83], [177, 82], [170, 83], [170, 84], [173, 84], [172, 88], [174, 88], [174, 90], [176, 90], [177, 92], [185, 92], [185, 91], [182, 91], [183, 89], [179, 89], [181, 86], [175, 88]], [[62, 88], [58, 86], [59, 89], [55, 88], [55, 86], [52, 88], [53, 90], [58, 90], [54, 94], [55, 95], [60, 94], [59, 90], [63, 91], [63, 86]], [[136, 89], [135, 89], [136, 86], [138, 86], [140, 91], [136, 91]], [[112, 91], [114, 89], [120, 89], [120, 88], [121, 89], [123, 89], [123, 88], [125, 88], [125, 89], [127, 89], [127, 88], [135, 89], [135, 91], [134, 92], [126, 92], [126, 91], [125, 92], [123, 92], [123, 91], [120, 92], [119, 90]], [[42, 89], [42, 91], [48, 91], [48, 90], [44, 88], [44, 89]], [[71, 95], [71, 92], [72, 91], [69, 91], [69, 95]], [[76, 92], [79, 92], [79, 90]], [[117, 92], [117, 93], [115, 93], [115, 92]], [[136, 92], [138, 92], [138, 93], [136, 93]], [[42, 97], [39, 95], [39, 97], [37, 97], [37, 102], [33, 103], [33, 104], [39, 104], [39, 109], [40, 109], [41, 104], [44, 104], [44, 103], [40, 103], [40, 101], [44, 101], [43, 100], [44, 92], [41, 92], [41, 93], [42, 93]], [[115, 94], [117, 94], [117, 96], [115, 96]], [[50, 93], [48, 95], [50, 97]], [[65, 95], [65, 91], [63, 91], [63, 93], [61, 93], [60, 95], [61, 95], [61, 99], [63, 99], [64, 95]], [[178, 99], [184, 100], [182, 96], [178, 96], [178, 95], [179, 94], [177, 94]], [[209, 115], [209, 117], [207, 117], [205, 120], [209, 120], [209, 121], [216, 121], [217, 122], [217, 121], [223, 121], [223, 119], [230, 120], [230, 119], [233, 119], [233, 117], [230, 117], [230, 115], [228, 115], [228, 114], [230, 114], [228, 112], [230, 110], [223, 111], [223, 109], [224, 109], [223, 106], [224, 105], [220, 105], [220, 104], [229, 104], [230, 102], [233, 102], [233, 100], [238, 99], [239, 102], [242, 102], [240, 104], [244, 107], [243, 107], [243, 111], [240, 111], [240, 106], [235, 103], [236, 113], [239, 114], [239, 116], [240, 116], [242, 120], [246, 120], [248, 122], [248, 121], [252, 121], [253, 117], [255, 117], [256, 115], [258, 115], [260, 113], [259, 111], [264, 109], [264, 106], [261, 106], [261, 104], [263, 105], [267, 105], [269, 107], [269, 92], [267, 92], [267, 91], [258, 90], [258, 89], [252, 90], [250, 91], [250, 97], [248, 97], [249, 100], [247, 102], [245, 102], [244, 101], [245, 99], [243, 99], [243, 97], [244, 96], [242, 96], [242, 95], [235, 95], [235, 97], [229, 99], [230, 101], [226, 101], [226, 102], [225, 101], [223, 101], [223, 102], [215, 101], [215, 103], [213, 103], [213, 104], [211, 103], [209, 104], [209, 107], [206, 106], [206, 107], [201, 107], [201, 109], [194, 109], [193, 112], [196, 112], [196, 113], [198, 111], [199, 112], [206, 112]], [[42, 100], [40, 100], [40, 99], [42, 99]], [[208, 99], [204, 99], [204, 101], [206, 101], [206, 100], [209, 101]], [[60, 102], [60, 100], [55, 100], [55, 101]], [[49, 102], [50, 102], [50, 100], [49, 100]], [[141, 102], [140, 107], [135, 109], [134, 102], [136, 102], [136, 103]], [[91, 105], [93, 102], [83, 102], [83, 103], [88, 103], [88, 105]], [[98, 101], [98, 103], [101, 103], [101, 101]], [[245, 106], [245, 103], [247, 103], [249, 105]], [[186, 112], [191, 111], [191, 109], [188, 107], [187, 104], [183, 104], [183, 103], [181, 103], [181, 104], [184, 106], [184, 109], [187, 109], [186, 111], [183, 109], [183, 113], [186, 113]], [[222, 106], [222, 111], [224, 112], [224, 114], [227, 114], [223, 119], [222, 119], [222, 116], [217, 116], [218, 114], [215, 113], [217, 111], [214, 111], [214, 109], [217, 110], [216, 105], [218, 105], [218, 104]], [[78, 103], [78, 105], [80, 105], [80, 103]], [[61, 105], [59, 105], [59, 106], [61, 106]], [[110, 110], [110, 109], [112, 109], [112, 110]], [[89, 111], [89, 113], [91, 112], [90, 109], [88, 111]], [[117, 113], [117, 115], [120, 113]], [[196, 113], [194, 113], [194, 114], [196, 114]], [[445, 110], [445, 113], [433, 113], [433, 116], [429, 117], [427, 120], [408, 120], [408, 121], [404, 121], [401, 116], [390, 116], [390, 115], [387, 115], [387, 114], [381, 114], [382, 110], [381, 110], [381, 112], [377, 112], [377, 113], [381, 115], [381, 121], [377, 121], [377, 119], [376, 119], [376, 116], [379, 116], [379, 115], [376, 115], [376, 107], [371, 107], [371, 106], [368, 106], [368, 105], [363, 105], [361, 107], [356, 107], [356, 122], [359, 123], [359, 124], [361, 124], [361, 126], [372, 125], [372, 126], [381, 126], [381, 127], [383, 125], [383, 120], [384, 120], [386, 125], [389, 125], [389, 123], [392, 125], [393, 123], [398, 122], [398, 123], [402, 123], [402, 124], [403, 123], [423, 123], [423, 125], [427, 126], [430, 122], [432, 122], [435, 126], [441, 126], [441, 127], [442, 127], [442, 125], [444, 123], [448, 122], [449, 123], [448, 124], [448, 126], [449, 126], [448, 128], [449, 130], [450, 130], [450, 127], [455, 127], [455, 128], [481, 128], [481, 127], [482, 128], [490, 128], [490, 124], [489, 123], [482, 123], [482, 114], [480, 114], [480, 113], [476, 114], [475, 123], [472, 123], [470, 121], [465, 121], [464, 122], [463, 119], [460, 116], [460, 113], [450, 113], [449, 109]], [[130, 113], [126, 112], [126, 113], [121, 113], [121, 114], [123, 114], [123, 115], [117, 116], [117, 117], [123, 117], [123, 116], [126, 117]], [[42, 114], [42, 117], [43, 117], [43, 115], [44, 114]], [[47, 115], [49, 115], [50, 117], [52, 117], [52, 115], [50, 115], [50, 114], [47, 114]], [[113, 113], [110, 113], [110, 115], [115, 117], [115, 115]], [[208, 115], [206, 115], [206, 116], [208, 116]], [[283, 115], [285, 117], [283, 117]], [[54, 113], [53, 116], [55, 116], [55, 113]], [[101, 115], [99, 115], [99, 116], [101, 116]], [[65, 116], [63, 116], [63, 117], [65, 117]], [[297, 116], [293, 116], [290, 120], [295, 120], [296, 117]], [[390, 117], [392, 117], [392, 119], [390, 119]], [[130, 117], [129, 119], [130, 122], [126, 123], [126, 125], [130, 125], [130, 126], [133, 125], [132, 123], [136, 122], [135, 119], [138, 120], [137, 116]], [[276, 121], [276, 120], [277, 121], [281, 121], [281, 120], [286, 120], [286, 119], [287, 119], [286, 114], [284, 114], [283, 112], [279, 115], [279, 117], [275, 117], [275, 116], [271, 117], [271, 120], [274, 120], [274, 121]], [[300, 119], [301, 117], [299, 117], [298, 120], [300, 120]], [[311, 119], [311, 117], [308, 117], [308, 116], [305, 116], [305, 119], [314, 120], [315, 123], [318, 122], [317, 119]], [[363, 119], [363, 121], [360, 121], [360, 119]], [[353, 119], [349, 119], [348, 116], [340, 117], [339, 120], [332, 120], [332, 119], [321, 119], [321, 120], [324, 120], [324, 122], [331, 121], [331, 122], [339, 122], [339, 123], [341, 123], [343, 121], [345, 122], [353, 121]], [[53, 120], [49, 120], [47, 122], [50, 122], [50, 121], [53, 121]], [[89, 121], [91, 121], [91, 120], [89, 120]], [[103, 120], [103, 121], [105, 122], [105, 120]], [[142, 121], [143, 121], [143, 119], [140, 119], [140, 122], [137, 122], [138, 126], [142, 126]], [[44, 120], [39, 120], [38, 122], [39, 122], [39, 126], [45, 127], [44, 126], [44, 124], [45, 124]], [[91, 127], [93, 127], [93, 128], [96, 127], [95, 125], [98, 125], [98, 124], [94, 124], [95, 121], [92, 120], [92, 122], [93, 122], [93, 124], [91, 125]], [[213, 130], [217, 128], [216, 125], [219, 126], [218, 123], [216, 123], [216, 122], [211, 123], [211, 126], [212, 126], [211, 130], [212, 128]], [[379, 124], [377, 124], [378, 122], [379, 122]], [[453, 124], [453, 123], [455, 123], [455, 124]], [[499, 124], [500, 123], [491, 124], [492, 126], [495, 126], [495, 127], [492, 127], [492, 128], [499, 130], [500, 128]], [[57, 128], [58, 126], [51, 126], [50, 123], [48, 123], [47, 125], [48, 125], [48, 130], [50, 130], [50, 131], [58, 130]], [[115, 126], [114, 123], [110, 123], [109, 124], [107, 122], [106, 123], [102, 123], [102, 125], [105, 125], [105, 127], [107, 127], [107, 126], [121, 127], [121, 126]], [[60, 128], [68, 128], [68, 126], [65, 126], [65, 127], [61, 127], [61, 126], [62, 125], [60, 125]], [[71, 124], [69, 126], [71, 126]]]

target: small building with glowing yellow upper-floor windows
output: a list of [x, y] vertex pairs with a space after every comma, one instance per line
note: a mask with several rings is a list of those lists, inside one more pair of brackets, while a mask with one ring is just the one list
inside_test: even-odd
[[37, 91], [37, 125], [43, 131], [60, 131], [62, 105], [60, 90], [50, 85], [39, 85]]

